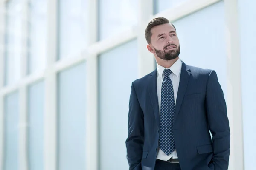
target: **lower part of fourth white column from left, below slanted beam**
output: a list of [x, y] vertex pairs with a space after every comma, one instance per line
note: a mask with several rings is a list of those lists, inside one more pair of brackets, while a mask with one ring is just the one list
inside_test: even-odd
[[86, 111], [86, 169], [98, 170], [99, 165], [99, 122], [97, 58], [90, 56], [87, 67], [87, 111]]

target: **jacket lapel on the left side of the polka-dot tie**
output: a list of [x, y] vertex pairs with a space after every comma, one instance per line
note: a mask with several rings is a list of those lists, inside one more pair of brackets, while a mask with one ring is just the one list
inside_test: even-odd
[[157, 127], [160, 129], [159, 121], [159, 106], [158, 106], [158, 99], [157, 99], [157, 69], [153, 71], [150, 75], [149, 82], [148, 82], [148, 93], [150, 96], [150, 100], [152, 103], [152, 107], [154, 109], [154, 116], [156, 119]]

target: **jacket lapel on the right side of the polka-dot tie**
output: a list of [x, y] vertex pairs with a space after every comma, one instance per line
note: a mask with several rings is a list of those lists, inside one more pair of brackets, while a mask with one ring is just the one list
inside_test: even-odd
[[178, 116], [178, 113], [180, 111], [180, 106], [182, 104], [183, 97], [186, 92], [186, 87], [189, 82], [189, 77], [190, 77], [190, 70], [187, 68], [187, 65], [182, 62], [182, 67], [181, 67], [181, 73], [180, 73], [180, 84], [178, 88], [178, 93], [177, 93], [177, 100], [176, 100], [176, 105], [175, 105], [175, 114], [174, 114], [174, 122]]

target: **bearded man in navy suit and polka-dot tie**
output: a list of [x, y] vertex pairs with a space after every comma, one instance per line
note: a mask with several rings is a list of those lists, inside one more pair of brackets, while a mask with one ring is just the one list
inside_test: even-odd
[[227, 170], [230, 128], [216, 72], [180, 60], [166, 18], [151, 20], [145, 38], [157, 69], [131, 85], [129, 170]]

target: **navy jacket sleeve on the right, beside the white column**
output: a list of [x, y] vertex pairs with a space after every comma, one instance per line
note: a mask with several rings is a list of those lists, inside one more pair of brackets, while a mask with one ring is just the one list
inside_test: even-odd
[[206, 91], [209, 130], [212, 133], [215, 170], [227, 170], [230, 155], [230, 127], [223, 91], [215, 71], [209, 74]]

